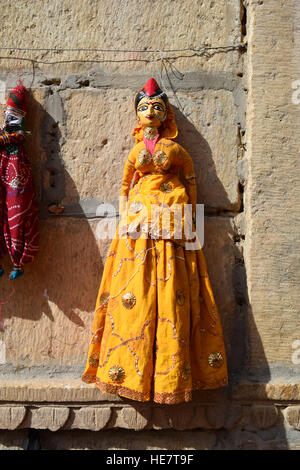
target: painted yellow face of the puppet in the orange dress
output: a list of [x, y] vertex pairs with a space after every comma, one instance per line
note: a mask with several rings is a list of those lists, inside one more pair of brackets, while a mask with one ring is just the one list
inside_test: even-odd
[[161, 98], [145, 96], [137, 106], [137, 117], [142, 127], [159, 127], [166, 116], [167, 107]]

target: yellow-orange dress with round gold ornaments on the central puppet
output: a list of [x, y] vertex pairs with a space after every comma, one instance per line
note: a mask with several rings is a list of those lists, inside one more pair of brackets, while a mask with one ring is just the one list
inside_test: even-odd
[[[127, 211], [105, 262], [82, 376], [103, 392], [165, 404], [227, 384], [222, 326], [202, 249], [186, 249], [172, 214], [171, 224], [164, 222], [170, 206], [196, 204], [193, 162], [172, 140], [177, 127], [171, 121], [152, 155], [143, 130], [137, 132], [125, 163]], [[162, 217], [151, 213], [151, 204]]]

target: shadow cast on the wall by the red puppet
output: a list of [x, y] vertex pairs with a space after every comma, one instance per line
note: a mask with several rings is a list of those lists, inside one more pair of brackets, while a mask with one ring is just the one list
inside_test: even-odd
[[[40, 249], [35, 260], [25, 266], [23, 277], [14, 283], [8, 279], [11, 263], [9, 256], [5, 256], [0, 301], [8, 302], [2, 308], [3, 320], [9, 336], [16, 317], [38, 322], [46, 315], [51, 322], [58, 323], [57, 336], [70, 328], [74, 338], [74, 328], [65, 322], [63, 315], [81, 333], [87, 323], [90, 326], [103, 269], [93, 231], [96, 222], [48, 211], [49, 205], [59, 203], [64, 196], [66, 175], [60, 155], [61, 134], [58, 123], [32, 94], [28, 102], [26, 128], [31, 135], [26, 147], [39, 200]], [[79, 201], [76, 188], [72, 191]], [[22, 330], [22, 323], [18, 322], [16, 328]], [[46, 328], [44, 334], [47, 333]], [[40, 334], [43, 335], [42, 330]]]

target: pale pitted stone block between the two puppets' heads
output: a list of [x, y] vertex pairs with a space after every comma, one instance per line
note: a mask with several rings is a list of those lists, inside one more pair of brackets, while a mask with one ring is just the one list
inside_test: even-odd
[[[143, 86], [143, 85], [141, 85]], [[136, 126], [131, 90], [63, 92], [66, 143], [63, 204], [117, 199]]]

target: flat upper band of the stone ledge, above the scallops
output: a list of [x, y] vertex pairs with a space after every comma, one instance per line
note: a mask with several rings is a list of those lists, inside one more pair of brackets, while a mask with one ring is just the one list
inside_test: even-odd
[[[254, 383], [243, 381], [219, 390], [204, 390], [194, 393], [192, 403], [220, 403], [224, 401], [280, 401], [300, 402], [300, 383], [270, 382]], [[1, 402], [18, 403], [118, 403], [138, 404], [132, 400], [102, 393], [95, 385], [85, 384], [81, 379], [58, 380], [39, 378], [32, 380], [0, 381]], [[141, 403], [141, 406], [161, 406], [155, 403]], [[170, 405], [164, 405], [170, 406]], [[179, 405], [172, 405], [173, 407]], [[182, 405], [181, 405], [182, 406]]]

